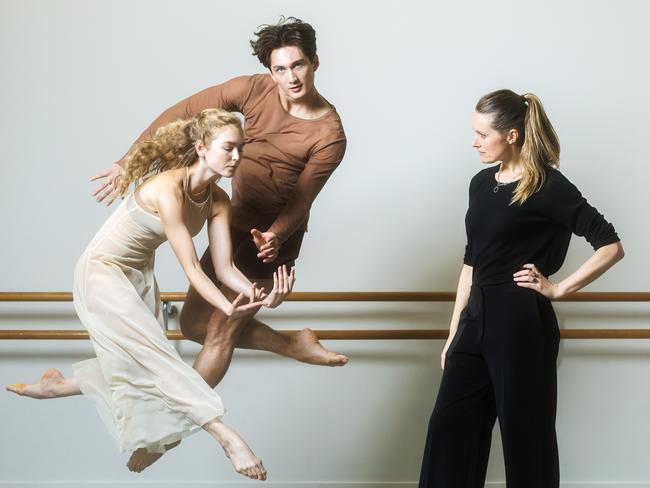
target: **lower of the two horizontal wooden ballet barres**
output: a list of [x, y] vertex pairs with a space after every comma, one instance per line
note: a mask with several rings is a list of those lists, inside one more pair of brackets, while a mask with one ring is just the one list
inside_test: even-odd
[[[279, 330], [295, 334], [295, 330]], [[314, 330], [322, 340], [428, 340], [446, 339], [447, 329], [375, 329], [375, 330]], [[186, 340], [179, 330], [167, 332], [171, 340]], [[560, 329], [562, 339], [650, 339], [650, 329]], [[0, 340], [83, 340], [85, 330], [0, 330]]]

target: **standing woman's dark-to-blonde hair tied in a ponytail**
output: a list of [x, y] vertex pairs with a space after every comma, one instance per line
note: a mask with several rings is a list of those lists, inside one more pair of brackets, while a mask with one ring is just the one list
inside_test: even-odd
[[532, 93], [497, 90], [483, 96], [476, 111], [492, 115], [492, 127], [502, 133], [511, 129], [519, 132], [523, 175], [510, 203], [523, 204], [542, 187], [546, 171], [560, 166], [560, 141], [542, 102]]

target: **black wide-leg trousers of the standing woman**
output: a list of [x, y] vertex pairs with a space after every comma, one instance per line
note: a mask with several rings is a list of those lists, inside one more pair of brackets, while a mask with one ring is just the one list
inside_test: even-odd
[[483, 488], [497, 418], [507, 487], [559, 487], [559, 339], [553, 307], [539, 293], [472, 287], [447, 351], [420, 488]]

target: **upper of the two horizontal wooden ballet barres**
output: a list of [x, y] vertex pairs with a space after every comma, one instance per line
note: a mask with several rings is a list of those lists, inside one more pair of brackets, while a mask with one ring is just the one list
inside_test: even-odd
[[[163, 292], [165, 302], [185, 301], [185, 292]], [[314, 291], [291, 293], [290, 302], [453, 302], [451, 291]], [[0, 302], [70, 302], [70, 292], [0, 292]], [[559, 302], [650, 302], [650, 292], [578, 292]]]

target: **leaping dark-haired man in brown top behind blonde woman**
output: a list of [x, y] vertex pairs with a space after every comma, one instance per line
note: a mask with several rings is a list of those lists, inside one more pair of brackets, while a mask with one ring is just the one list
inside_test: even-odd
[[[314, 86], [319, 59], [311, 25], [282, 18], [262, 26], [255, 36], [253, 54], [269, 73], [233, 78], [190, 96], [163, 112], [135, 144], [158, 127], [205, 108], [244, 115], [245, 147], [232, 182], [233, 257], [251, 281], [270, 290], [273, 272], [280, 265], [294, 265], [309, 209], [343, 159], [346, 138], [336, 109]], [[94, 193], [98, 201], [112, 202], [120, 163], [91, 178], [106, 178]], [[201, 265], [216, 282], [209, 250]], [[254, 318], [243, 324], [228, 321], [191, 287], [180, 319], [183, 334], [203, 344], [194, 367], [212, 387], [225, 375], [234, 347], [271, 351], [310, 364], [342, 366], [348, 361], [326, 350], [310, 329], [289, 336]]]

